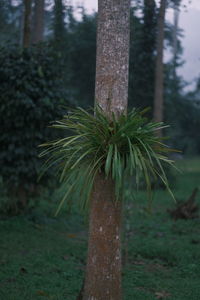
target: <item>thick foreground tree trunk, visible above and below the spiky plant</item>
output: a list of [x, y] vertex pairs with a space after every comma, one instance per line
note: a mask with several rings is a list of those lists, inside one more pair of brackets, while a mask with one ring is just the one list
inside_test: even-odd
[[[100, 0], [96, 105], [109, 116], [126, 112], [130, 0]], [[99, 173], [91, 197], [83, 300], [121, 300], [121, 202], [111, 178]]]

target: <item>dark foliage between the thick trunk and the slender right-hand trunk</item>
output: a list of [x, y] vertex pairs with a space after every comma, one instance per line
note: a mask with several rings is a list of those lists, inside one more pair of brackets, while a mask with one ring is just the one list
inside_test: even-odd
[[154, 0], [144, 1], [142, 18], [139, 18], [135, 11], [137, 8], [133, 8], [131, 13], [129, 105], [142, 108], [153, 107], [156, 3]]

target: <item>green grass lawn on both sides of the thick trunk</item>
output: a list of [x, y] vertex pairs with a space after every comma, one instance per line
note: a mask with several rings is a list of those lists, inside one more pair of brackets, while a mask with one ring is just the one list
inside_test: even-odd
[[[174, 194], [186, 200], [200, 187], [200, 159], [177, 162]], [[153, 213], [146, 195], [127, 191], [123, 234], [124, 300], [200, 299], [200, 219], [170, 219], [175, 203], [154, 192]], [[57, 193], [44, 195], [26, 216], [0, 219], [0, 299], [75, 300], [87, 250], [87, 221], [72, 209], [53, 217]], [[200, 193], [197, 195], [200, 202]], [[200, 204], [200, 203], [199, 203]]]

